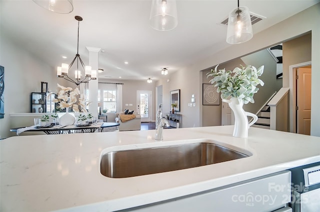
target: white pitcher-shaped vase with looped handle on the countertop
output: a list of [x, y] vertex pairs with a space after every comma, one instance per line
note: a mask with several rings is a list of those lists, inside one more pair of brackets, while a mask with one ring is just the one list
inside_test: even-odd
[[[234, 114], [234, 129], [232, 135], [238, 138], [247, 138], [249, 127], [258, 120], [258, 117], [253, 113], [245, 112], [243, 110], [242, 99], [231, 97], [228, 100], [222, 99], [222, 101], [227, 102], [229, 104], [229, 107], [231, 108]], [[253, 120], [250, 123], [248, 123], [247, 116], [251, 116], [253, 118]]]

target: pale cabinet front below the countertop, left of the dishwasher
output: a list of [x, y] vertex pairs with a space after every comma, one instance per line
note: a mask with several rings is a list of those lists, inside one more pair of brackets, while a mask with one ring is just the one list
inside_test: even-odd
[[289, 212], [291, 172], [244, 181], [131, 210], [138, 212]]

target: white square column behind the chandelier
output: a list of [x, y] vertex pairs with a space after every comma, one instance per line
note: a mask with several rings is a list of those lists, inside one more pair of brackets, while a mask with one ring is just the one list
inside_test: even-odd
[[[86, 49], [89, 51], [89, 66], [92, 70], [98, 71], [98, 56], [100, 48], [88, 47]], [[89, 113], [92, 113], [93, 116], [98, 116], [98, 79], [89, 81]]]

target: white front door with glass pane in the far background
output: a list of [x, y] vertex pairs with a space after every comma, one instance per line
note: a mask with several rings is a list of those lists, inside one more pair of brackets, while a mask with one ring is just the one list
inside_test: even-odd
[[141, 115], [141, 122], [151, 121], [151, 94], [151, 91], [136, 91], [136, 109]]

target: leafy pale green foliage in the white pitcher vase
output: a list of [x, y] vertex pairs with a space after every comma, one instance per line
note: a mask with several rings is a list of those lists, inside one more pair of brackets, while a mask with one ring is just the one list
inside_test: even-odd
[[254, 103], [253, 94], [259, 90], [256, 86], [259, 84], [263, 86], [264, 84], [262, 80], [258, 79], [263, 73], [263, 65], [258, 69], [251, 65], [241, 65], [241, 68], [236, 67], [233, 71], [226, 71], [225, 69], [217, 71], [217, 67], [218, 65], [215, 66], [214, 70], [211, 69], [207, 73], [207, 77], [213, 77], [210, 83], [217, 87], [217, 92], [221, 92], [222, 99], [231, 96], [242, 99], [244, 104]]

